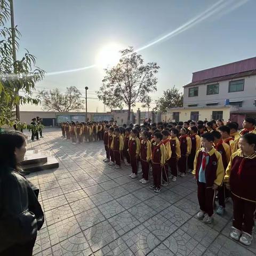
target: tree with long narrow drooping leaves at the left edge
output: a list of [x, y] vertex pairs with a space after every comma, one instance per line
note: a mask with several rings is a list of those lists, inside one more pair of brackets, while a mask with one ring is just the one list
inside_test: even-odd
[[[35, 83], [44, 77], [44, 70], [35, 66], [36, 58], [28, 51], [20, 60], [14, 60], [12, 45], [12, 28], [7, 24], [10, 20], [10, 2], [0, 1], [0, 125], [11, 125], [15, 105], [24, 103], [38, 104], [33, 98]], [[21, 36], [17, 26], [14, 28], [15, 50], [19, 49]], [[18, 95], [18, 91], [22, 95]], [[12, 114], [11, 114], [12, 113]]]

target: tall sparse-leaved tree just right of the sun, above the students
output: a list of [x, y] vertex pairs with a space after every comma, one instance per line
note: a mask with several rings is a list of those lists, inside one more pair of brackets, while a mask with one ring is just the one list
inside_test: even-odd
[[118, 64], [105, 69], [106, 75], [97, 95], [109, 108], [127, 106], [127, 123], [130, 123], [131, 107], [135, 106], [135, 102], [147, 104], [149, 93], [156, 91], [159, 67], [156, 62], [143, 65], [141, 55], [134, 52], [133, 47], [120, 52]]

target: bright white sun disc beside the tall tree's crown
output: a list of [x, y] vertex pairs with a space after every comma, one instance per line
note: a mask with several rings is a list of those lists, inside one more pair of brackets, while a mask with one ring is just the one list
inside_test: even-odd
[[96, 65], [100, 68], [108, 68], [117, 65], [121, 57], [121, 53], [119, 51], [122, 49], [122, 45], [117, 43], [111, 43], [103, 46], [97, 55]]

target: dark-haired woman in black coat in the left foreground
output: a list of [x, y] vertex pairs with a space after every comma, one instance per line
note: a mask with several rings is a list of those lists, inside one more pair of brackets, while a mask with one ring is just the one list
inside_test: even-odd
[[0, 134], [0, 256], [32, 255], [44, 223], [38, 191], [19, 173], [26, 151], [21, 132]]

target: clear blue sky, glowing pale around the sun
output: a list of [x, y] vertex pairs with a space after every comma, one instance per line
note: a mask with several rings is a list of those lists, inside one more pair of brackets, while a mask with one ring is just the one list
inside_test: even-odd
[[[14, 0], [15, 24], [22, 34], [18, 57], [28, 49], [36, 56], [36, 65], [49, 73], [36, 84], [36, 92], [55, 88], [65, 92], [66, 87], [76, 86], [84, 95], [88, 86], [88, 111], [101, 112], [103, 103], [95, 99], [104, 76], [101, 66], [51, 73], [94, 65], [99, 52], [109, 44], [140, 49], [214, 3], [217, 1]], [[173, 85], [182, 92], [194, 71], [256, 56], [256, 1], [222, 0], [219, 6], [194, 26], [139, 51], [145, 62], [155, 61], [160, 66], [153, 100]], [[139, 103], [134, 109], [138, 107]], [[41, 106], [20, 109], [41, 110]]]

